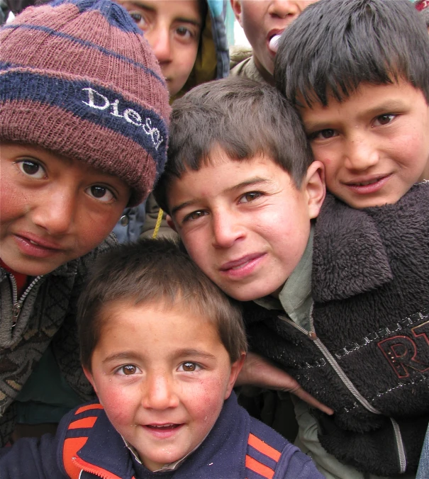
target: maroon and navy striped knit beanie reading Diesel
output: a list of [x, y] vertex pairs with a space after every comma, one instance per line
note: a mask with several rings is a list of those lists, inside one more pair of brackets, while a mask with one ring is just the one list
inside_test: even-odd
[[110, 0], [29, 7], [0, 30], [0, 142], [118, 176], [143, 201], [167, 153], [168, 91], [127, 11]]

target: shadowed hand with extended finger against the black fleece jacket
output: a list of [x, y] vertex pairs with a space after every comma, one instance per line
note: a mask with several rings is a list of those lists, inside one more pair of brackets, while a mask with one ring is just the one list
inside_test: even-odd
[[259, 388], [286, 391], [328, 415], [334, 413], [330, 407], [323, 405], [312, 395], [306, 393], [292, 376], [255, 353], [247, 353], [243, 369], [238, 375], [235, 385], [252, 385]]

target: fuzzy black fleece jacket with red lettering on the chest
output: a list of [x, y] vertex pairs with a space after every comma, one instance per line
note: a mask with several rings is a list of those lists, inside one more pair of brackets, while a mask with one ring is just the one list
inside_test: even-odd
[[328, 196], [318, 217], [314, 330], [359, 397], [286, 315], [254, 303], [245, 312], [252, 348], [335, 410], [333, 417], [315, 412], [326, 451], [366, 473], [399, 473], [391, 417], [406, 470], [416, 472], [428, 424], [428, 212], [429, 184], [421, 184], [395, 205], [366, 210]]

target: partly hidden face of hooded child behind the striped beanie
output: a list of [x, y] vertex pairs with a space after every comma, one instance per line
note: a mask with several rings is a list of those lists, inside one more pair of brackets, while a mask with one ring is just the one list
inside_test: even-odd
[[174, 96], [194, 67], [201, 35], [198, 0], [120, 0], [160, 62], [169, 94]]

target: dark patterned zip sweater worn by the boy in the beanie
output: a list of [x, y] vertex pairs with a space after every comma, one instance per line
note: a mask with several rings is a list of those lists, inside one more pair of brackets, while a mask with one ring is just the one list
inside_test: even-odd
[[[89, 266], [99, 253], [113, 244], [116, 244], [114, 237], [108, 237], [84, 257], [41, 276], [23, 293], [28, 294], [22, 304], [14, 298], [13, 279], [0, 269], [0, 445], [6, 444], [15, 427], [13, 401], [51, 341], [69, 385], [82, 399], [91, 398], [92, 388], [79, 360], [77, 298]], [[14, 317], [17, 303], [21, 309], [18, 317]]]

